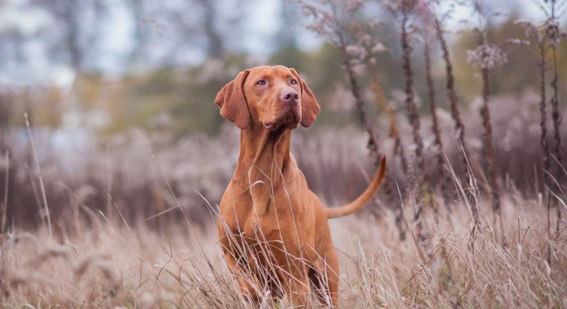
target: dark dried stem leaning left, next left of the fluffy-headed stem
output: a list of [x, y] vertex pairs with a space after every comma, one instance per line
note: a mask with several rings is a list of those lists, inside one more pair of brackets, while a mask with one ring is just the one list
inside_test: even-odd
[[445, 70], [447, 71], [447, 97], [451, 105], [451, 115], [455, 121], [455, 129], [458, 132], [458, 139], [463, 147], [463, 165], [465, 169], [465, 175], [471, 176], [469, 174], [469, 169], [467, 168], [468, 162], [467, 157], [469, 157], [469, 148], [467, 146], [467, 141], [465, 140], [465, 125], [463, 120], [460, 118], [460, 111], [458, 108], [458, 98], [455, 91], [455, 79], [453, 76], [453, 65], [451, 62], [451, 55], [449, 54], [449, 47], [447, 46], [447, 41], [443, 36], [443, 26], [441, 22], [435, 18], [435, 33], [437, 36], [437, 41], [441, 45], [441, 51], [443, 52], [443, 61], [445, 62]]

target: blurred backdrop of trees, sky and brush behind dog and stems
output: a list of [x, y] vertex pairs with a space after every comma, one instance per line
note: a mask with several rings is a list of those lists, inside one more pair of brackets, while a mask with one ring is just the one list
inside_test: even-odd
[[[410, 152], [399, 30], [381, 2], [366, 1], [364, 10], [352, 18], [378, 24], [383, 51], [376, 56], [377, 74]], [[440, 8], [450, 13], [445, 30], [459, 104], [471, 147], [480, 151], [482, 85], [467, 62], [467, 49], [478, 45], [473, 33], [478, 21], [470, 5], [446, 2]], [[525, 39], [516, 23], [520, 19], [546, 19], [529, 0], [485, 4], [491, 11], [486, 30], [493, 42]], [[108, 216], [119, 212], [127, 220], [146, 220], [167, 211], [147, 220], [159, 225], [179, 216], [168, 211], [176, 205], [192, 222], [208, 225], [238, 150], [238, 132], [221, 118], [213, 100], [223, 84], [256, 65], [286, 65], [304, 76], [322, 113], [315, 126], [300, 129], [294, 137], [294, 152], [310, 185], [326, 201], [357, 196], [373, 171], [367, 138], [340, 53], [309, 31], [310, 22], [293, 1], [0, 0], [0, 157], [5, 158], [0, 192], [8, 201], [5, 222], [33, 227], [45, 216], [47, 201], [60, 226], [73, 216], [89, 216], [89, 211]], [[564, 23], [560, 25], [564, 29]], [[421, 43], [412, 43], [412, 62], [427, 150], [433, 137]], [[533, 181], [526, 179], [539, 177], [534, 167], [541, 164], [534, 159], [541, 157], [536, 147], [536, 58], [527, 48], [505, 51], [507, 62], [491, 78], [498, 171], [531, 190]], [[445, 145], [454, 146], [445, 67], [436, 45], [432, 54]], [[565, 43], [559, 45], [557, 58], [560, 97], [565, 98]], [[388, 149], [392, 141], [387, 118], [373, 100], [364, 72], [359, 81], [366, 89], [368, 115]], [[400, 168], [392, 166], [390, 172], [398, 177]], [[331, 183], [324, 181], [331, 176]]]

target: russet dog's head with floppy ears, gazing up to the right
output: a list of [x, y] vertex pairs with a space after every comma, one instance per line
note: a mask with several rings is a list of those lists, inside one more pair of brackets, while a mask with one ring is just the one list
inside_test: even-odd
[[298, 72], [282, 65], [238, 73], [217, 93], [214, 104], [238, 128], [253, 125], [270, 131], [299, 124], [309, 127], [320, 111], [315, 95]]

